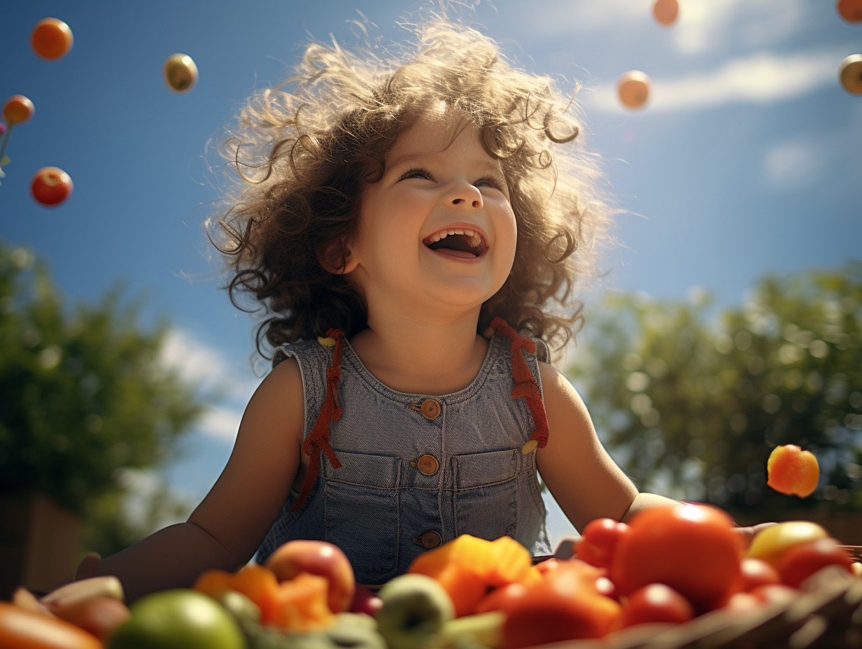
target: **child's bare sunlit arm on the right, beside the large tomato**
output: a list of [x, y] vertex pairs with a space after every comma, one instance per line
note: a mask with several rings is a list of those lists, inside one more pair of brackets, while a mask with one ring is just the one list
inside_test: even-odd
[[663, 496], [639, 494], [605, 451], [572, 384], [552, 365], [539, 366], [549, 430], [536, 463], [572, 525], [583, 530], [596, 518], [628, 521], [642, 509], [679, 504]]

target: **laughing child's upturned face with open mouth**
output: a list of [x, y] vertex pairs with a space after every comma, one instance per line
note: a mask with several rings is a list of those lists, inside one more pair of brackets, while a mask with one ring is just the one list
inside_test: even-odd
[[375, 309], [466, 313], [509, 276], [517, 228], [502, 167], [476, 128], [453, 140], [458, 128], [441, 110], [429, 112], [365, 188], [347, 270], [370, 318]]

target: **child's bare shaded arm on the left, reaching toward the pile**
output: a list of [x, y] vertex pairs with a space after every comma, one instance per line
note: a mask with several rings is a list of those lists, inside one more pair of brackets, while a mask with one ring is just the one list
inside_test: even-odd
[[208, 568], [245, 565], [297, 475], [303, 416], [299, 365], [286, 359], [255, 391], [228, 464], [189, 520], [103, 559], [95, 571], [89, 565], [89, 574], [78, 577], [116, 575], [133, 601], [154, 590], [189, 587]]

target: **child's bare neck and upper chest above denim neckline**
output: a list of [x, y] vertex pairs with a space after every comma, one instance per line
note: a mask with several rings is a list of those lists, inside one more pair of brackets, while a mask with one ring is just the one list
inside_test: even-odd
[[477, 320], [478, 309], [437, 321], [378, 314], [351, 345], [363, 365], [393, 390], [448, 394], [472, 383], [488, 351], [487, 341], [476, 334]]

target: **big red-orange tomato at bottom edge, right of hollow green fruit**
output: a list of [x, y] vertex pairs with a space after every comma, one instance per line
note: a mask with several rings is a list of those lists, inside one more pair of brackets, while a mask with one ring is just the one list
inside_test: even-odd
[[506, 649], [547, 642], [601, 638], [619, 627], [622, 608], [596, 588], [602, 571], [583, 561], [562, 562], [509, 608]]

